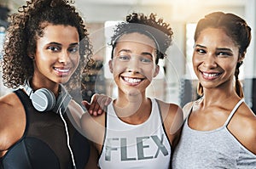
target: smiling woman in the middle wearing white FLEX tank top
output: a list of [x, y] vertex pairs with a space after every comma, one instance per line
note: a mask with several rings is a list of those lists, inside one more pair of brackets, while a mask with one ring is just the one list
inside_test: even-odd
[[[116, 25], [108, 62], [118, 97], [103, 115], [82, 116], [81, 127], [96, 149], [100, 168], [169, 168], [183, 112], [146, 96], [158, 75], [159, 59], [172, 42], [172, 29], [155, 14], [129, 14]], [[91, 166], [92, 167], [92, 166]]]

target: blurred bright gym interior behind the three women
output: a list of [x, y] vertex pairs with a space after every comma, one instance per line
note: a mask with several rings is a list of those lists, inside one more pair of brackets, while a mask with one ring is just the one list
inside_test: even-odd
[[[17, 11], [25, 0], [0, 0], [0, 48], [8, 27], [7, 15]], [[82, 78], [78, 99], [90, 101], [94, 93], [105, 93], [113, 98], [116, 87], [108, 70], [110, 59], [109, 37], [113, 25], [125, 20], [125, 15], [132, 12], [157, 14], [158, 18], [170, 23], [174, 38], [172, 47], [167, 50], [166, 59], [160, 61], [160, 75], [149, 87], [149, 97], [163, 99], [183, 106], [197, 99], [197, 80], [191, 66], [194, 45], [195, 24], [204, 15], [214, 11], [234, 13], [245, 20], [252, 28], [253, 39], [247, 50], [244, 65], [241, 67], [240, 80], [243, 84], [247, 104], [256, 112], [256, 1], [254, 0], [73, 0], [82, 14], [94, 46], [96, 60], [89, 75]], [[0, 61], [3, 59], [0, 54]], [[3, 86], [0, 69], [0, 96], [11, 92]]]

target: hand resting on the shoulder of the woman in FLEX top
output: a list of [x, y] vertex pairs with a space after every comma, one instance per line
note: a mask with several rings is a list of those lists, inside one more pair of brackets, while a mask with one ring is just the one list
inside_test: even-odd
[[84, 100], [82, 101], [82, 104], [84, 104], [86, 110], [88, 110], [90, 115], [96, 116], [96, 115], [102, 115], [102, 112], [106, 110], [108, 104], [110, 104], [111, 101], [112, 101], [112, 98], [110, 98], [109, 96], [95, 93], [91, 97], [90, 103]]

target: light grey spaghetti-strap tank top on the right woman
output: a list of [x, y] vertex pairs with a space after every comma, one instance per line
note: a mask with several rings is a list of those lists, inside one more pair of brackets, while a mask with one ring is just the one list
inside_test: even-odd
[[190, 128], [188, 116], [173, 153], [172, 169], [256, 169], [256, 155], [245, 148], [227, 128], [242, 102], [243, 99], [236, 104], [224, 126], [212, 131]]

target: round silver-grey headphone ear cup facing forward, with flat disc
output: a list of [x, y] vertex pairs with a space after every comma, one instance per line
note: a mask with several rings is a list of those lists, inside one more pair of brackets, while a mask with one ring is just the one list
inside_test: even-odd
[[30, 96], [34, 108], [38, 111], [49, 111], [55, 107], [55, 95], [46, 88], [40, 88]]

